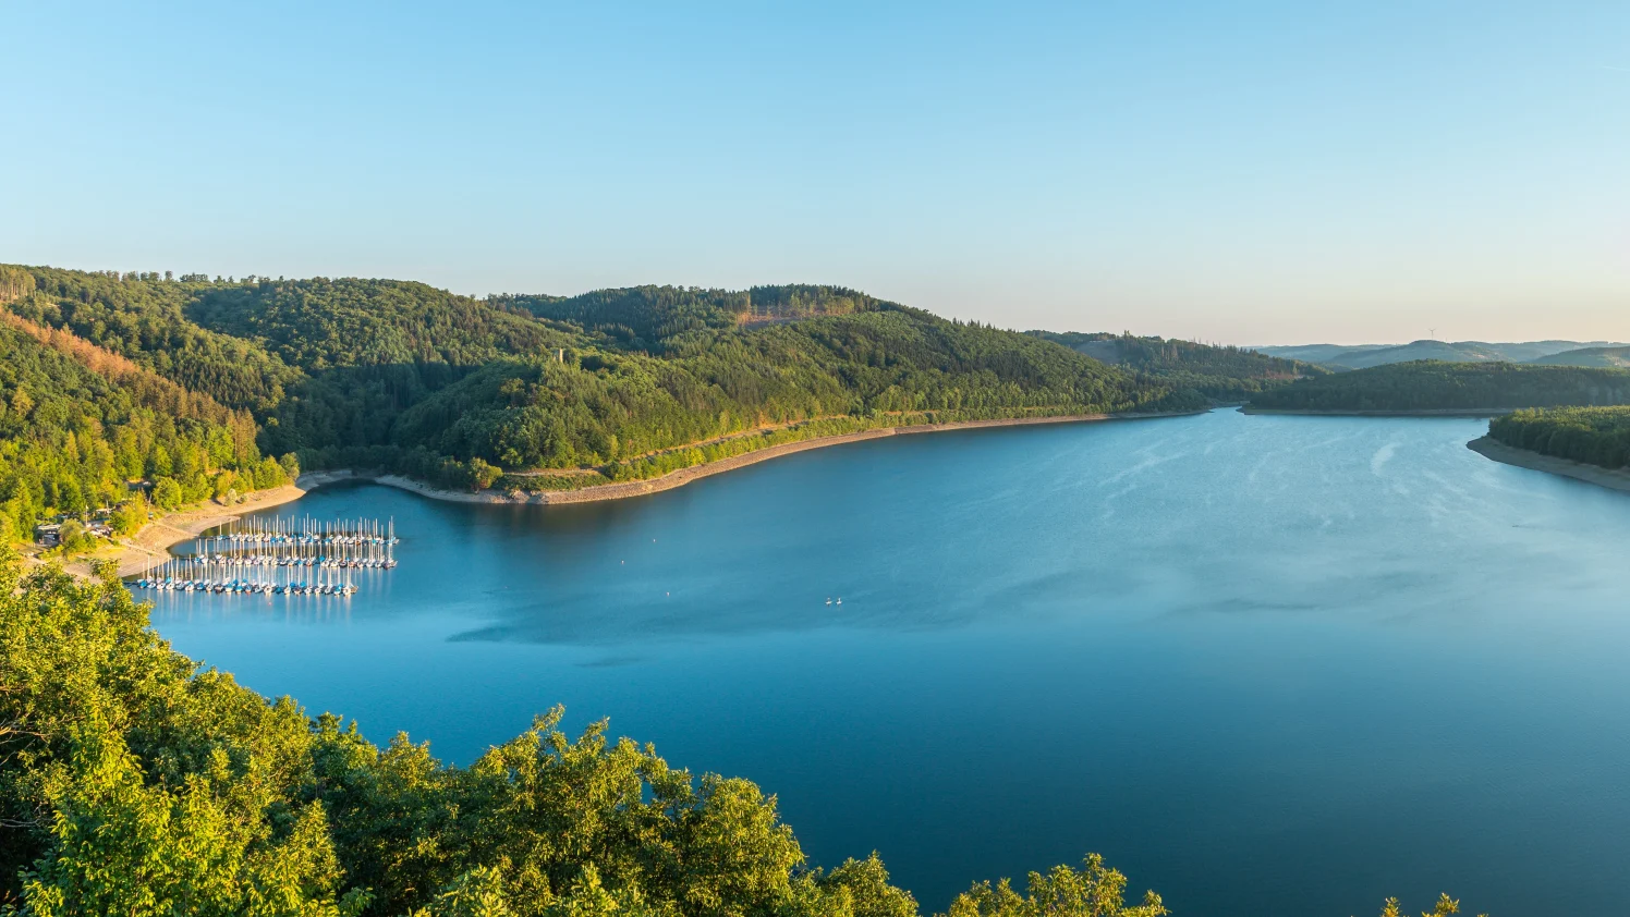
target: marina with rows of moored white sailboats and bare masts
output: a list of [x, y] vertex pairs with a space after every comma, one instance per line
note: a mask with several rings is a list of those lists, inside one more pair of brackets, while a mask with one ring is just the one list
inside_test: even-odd
[[394, 520], [240, 520], [130, 585], [163, 593], [347, 598], [357, 593], [352, 572], [396, 568], [398, 544]]

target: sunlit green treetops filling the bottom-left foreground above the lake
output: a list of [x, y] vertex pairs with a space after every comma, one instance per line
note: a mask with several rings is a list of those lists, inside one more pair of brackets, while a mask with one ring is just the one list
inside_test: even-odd
[[[0, 902], [36, 917], [914, 917], [877, 855], [808, 868], [776, 800], [577, 739], [561, 710], [469, 767], [197, 669], [112, 578], [0, 559]], [[1156, 917], [1089, 857], [952, 917]]]

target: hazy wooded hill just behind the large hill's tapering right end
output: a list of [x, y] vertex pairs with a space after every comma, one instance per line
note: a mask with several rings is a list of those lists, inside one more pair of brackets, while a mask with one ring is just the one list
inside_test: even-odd
[[1131, 334], [1082, 334], [1032, 331], [1117, 366], [1161, 380], [1164, 384], [1192, 388], [1216, 401], [1244, 401], [1249, 396], [1283, 386], [1304, 376], [1324, 376], [1330, 370], [1247, 350], [1213, 347], [1193, 340], [1136, 337]]

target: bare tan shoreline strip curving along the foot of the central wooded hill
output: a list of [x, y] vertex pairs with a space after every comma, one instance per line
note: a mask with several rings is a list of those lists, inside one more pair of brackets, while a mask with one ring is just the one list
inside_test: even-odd
[[489, 503], [489, 505], [512, 505], [512, 507], [600, 503], [605, 500], [626, 500], [629, 497], [644, 497], [647, 494], [660, 494], [663, 490], [673, 490], [675, 487], [685, 487], [686, 484], [693, 480], [701, 480], [703, 477], [712, 477], [716, 474], [724, 474], [727, 471], [735, 471], [738, 467], [747, 467], [750, 464], [758, 464], [761, 461], [769, 461], [794, 453], [820, 450], [826, 446], [841, 446], [844, 443], [859, 443], [862, 440], [880, 440], [883, 437], [944, 433], [952, 430], [980, 430], [985, 427], [1032, 427], [1038, 423], [1094, 423], [1104, 420], [1148, 420], [1156, 417], [1192, 417], [1196, 414], [1206, 414], [1208, 410], [1209, 409], [1149, 412], [1149, 414], [1064, 414], [1058, 417], [1004, 417], [996, 420], [955, 420], [950, 423], [914, 423], [906, 427], [879, 427], [875, 430], [861, 430], [856, 433], [838, 433], [833, 437], [815, 437], [810, 440], [799, 440], [795, 443], [781, 443], [779, 446], [768, 446], [763, 450], [742, 453], [738, 456], [722, 458], [717, 461], [709, 461], [691, 467], [681, 467], [678, 471], [670, 471], [668, 474], [650, 477], [645, 480], [628, 480], [621, 484], [597, 484], [593, 487], [584, 487], [580, 490], [541, 490], [541, 492], [443, 490], [440, 487], [430, 487], [429, 484], [421, 484], [417, 480], [403, 477], [399, 474], [370, 474], [365, 471], [315, 472], [315, 474], [324, 474], [328, 477], [319, 482], [311, 482], [310, 487], [306, 487], [306, 476], [302, 474], [297, 485], [315, 489], [321, 487], [323, 484], [333, 484], [337, 480], [372, 480], [375, 484], [396, 487], [399, 490], [408, 490], [421, 497], [429, 497], [430, 500], [447, 500], [450, 503]]

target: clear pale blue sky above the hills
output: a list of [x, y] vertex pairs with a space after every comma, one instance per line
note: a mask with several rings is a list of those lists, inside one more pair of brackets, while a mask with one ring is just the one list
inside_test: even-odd
[[1630, 339], [1630, 3], [8, 3], [0, 261]]

